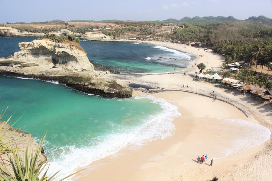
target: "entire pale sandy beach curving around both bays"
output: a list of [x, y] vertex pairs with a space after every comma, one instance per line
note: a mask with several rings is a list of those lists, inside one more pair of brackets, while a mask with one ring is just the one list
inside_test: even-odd
[[[222, 56], [183, 45], [150, 42], [195, 55], [194, 63], [219, 70]], [[199, 57], [199, 55], [204, 55]], [[144, 145], [128, 145], [118, 154], [86, 167], [73, 180], [269, 180], [272, 177], [271, 106], [252, 100], [249, 94], [193, 79], [198, 69], [152, 75], [107, 75], [118, 80], [164, 88], [151, 94], [179, 108], [173, 124], [176, 132]], [[214, 102], [212, 91], [217, 96]], [[135, 91], [135, 94], [145, 94]], [[235, 120], [234, 120], [235, 119]], [[262, 126], [261, 126], [262, 125]], [[266, 129], [268, 128], [268, 129]], [[267, 140], [268, 141], [265, 141]], [[199, 165], [198, 155], [208, 154]], [[210, 160], [215, 159], [212, 167]]]

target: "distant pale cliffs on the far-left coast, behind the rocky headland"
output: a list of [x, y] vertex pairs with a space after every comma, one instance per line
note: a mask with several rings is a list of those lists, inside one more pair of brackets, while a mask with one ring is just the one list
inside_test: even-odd
[[[56, 34], [60, 36], [62, 34], [73, 34], [73, 31], [67, 29], [61, 29], [58, 32], [49, 32], [49, 34]], [[27, 31], [20, 31], [11, 27], [0, 27], [0, 37], [42, 37], [44, 33], [32, 33]]]

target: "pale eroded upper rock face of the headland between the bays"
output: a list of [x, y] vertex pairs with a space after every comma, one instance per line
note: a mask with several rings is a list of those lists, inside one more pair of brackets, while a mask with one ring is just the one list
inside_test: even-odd
[[[49, 39], [19, 43], [20, 51], [14, 53], [13, 60], [35, 64], [32, 67], [16, 67], [24, 73], [61, 73], [94, 70], [86, 52], [73, 42], [55, 43]], [[21, 63], [20, 63], [21, 64]], [[38, 65], [38, 66], [37, 66]]]

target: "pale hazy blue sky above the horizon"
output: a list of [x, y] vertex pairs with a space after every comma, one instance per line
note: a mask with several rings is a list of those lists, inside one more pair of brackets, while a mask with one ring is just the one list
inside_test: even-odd
[[272, 18], [272, 0], [0, 0], [0, 22], [165, 20], [185, 16]]

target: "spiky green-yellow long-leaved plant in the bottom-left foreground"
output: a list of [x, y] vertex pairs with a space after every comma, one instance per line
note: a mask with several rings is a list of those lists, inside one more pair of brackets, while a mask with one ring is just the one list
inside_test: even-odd
[[[37, 166], [37, 161], [39, 154], [41, 153], [42, 145], [44, 143], [44, 139], [46, 137], [47, 132], [44, 134], [44, 136], [41, 138], [36, 151], [32, 148], [31, 153], [28, 151], [28, 146], [26, 147], [25, 151], [20, 151], [19, 153], [18, 149], [11, 148], [11, 154], [8, 155], [9, 162], [11, 163], [12, 170], [14, 173], [10, 173], [6, 167], [4, 167], [2, 164], [0, 165], [0, 181], [51, 181], [55, 180], [55, 176], [60, 172], [57, 171], [52, 176], [47, 176], [47, 169], [44, 173], [43, 170], [46, 168], [48, 162], [46, 159]], [[81, 171], [81, 170], [80, 170]], [[79, 171], [78, 171], [79, 172]], [[64, 177], [61, 180], [64, 180], [78, 172], [75, 172], [69, 176]]]

